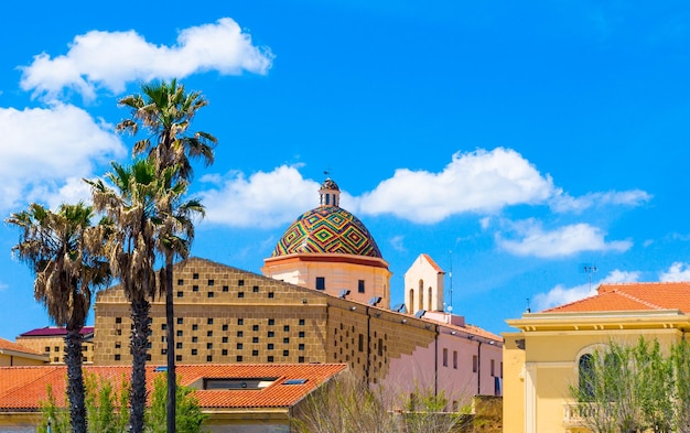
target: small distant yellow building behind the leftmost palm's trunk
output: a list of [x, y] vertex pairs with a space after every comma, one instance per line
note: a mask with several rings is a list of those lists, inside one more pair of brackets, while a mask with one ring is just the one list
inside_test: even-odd
[[[67, 329], [60, 326], [46, 326], [29, 331], [17, 337], [17, 343], [29, 347], [40, 354], [45, 354], [51, 364], [65, 364], [67, 353], [65, 336]], [[84, 342], [82, 343], [82, 362], [94, 362], [94, 327], [82, 328]]]

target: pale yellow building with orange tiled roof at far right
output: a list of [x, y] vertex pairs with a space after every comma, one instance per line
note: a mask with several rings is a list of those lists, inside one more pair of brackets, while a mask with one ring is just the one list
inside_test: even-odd
[[507, 321], [504, 432], [581, 432], [570, 386], [583, 357], [639, 336], [668, 347], [690, 331], [690, 283], [602, 284], [596, 295]]

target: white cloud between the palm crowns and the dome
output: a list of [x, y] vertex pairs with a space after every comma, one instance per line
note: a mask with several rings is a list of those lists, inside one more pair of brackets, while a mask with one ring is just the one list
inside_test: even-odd
[[[214, 180], [216, 187], [202, 193], [205, 221], [235, 227], [273, 228], [292, 223], [319, 205], [320, 184], [302, 177], [294, 166], [258, 172], [248, 178], [239, 172]], [[343, 197], [345, 198], [345, 197]]]

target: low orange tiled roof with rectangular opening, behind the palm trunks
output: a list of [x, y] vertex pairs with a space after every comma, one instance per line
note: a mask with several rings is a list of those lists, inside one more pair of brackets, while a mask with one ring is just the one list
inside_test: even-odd
[[[288, 408], [315, 390], [321, 383], [347, 368], [344, 364], [276, 364], [276, 365], [182, 365], [176, 374], [182, 385], [200, 383], [204, 378], [248, 379], [274, 377], [274, 382], [258, 390], [197, 390], [202, 408]], [[155, 366], [147, 367], [147, 388], [151, 391]], [[128, 380], [130, 367], [85, 366], [85, 374], [95, 374], [111, 380], [119, 389], [121, 380]], [[0, 367], [0, 411], [37, 410], [46, 399], [50, 383], [58, 405], [65, 403], [65, 366]], [[288, 379], [308, 379], [302, 385], [283, 385]], [[150, 394], [150, 392], [149, 392]]]

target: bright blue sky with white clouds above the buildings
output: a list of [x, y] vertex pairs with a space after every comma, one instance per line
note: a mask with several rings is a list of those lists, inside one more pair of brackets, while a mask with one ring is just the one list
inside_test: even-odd
[[[88, 196], [83, 177], [129, 161], [117, 99], [177, 77], [211, 102], [194, 128], [219, 139], [195, 172], [194, 256], [258, 272], [328, 171], [393, 303], [421, 252], [452, 266], [454, 312], [496, 333], [528, 300], [591, 294], [590, 278], [690, 280], [684, 2], [217, 3], [8, 7], [3, 218]], [[0, 226], [9, 339], [50, 324], [18, 236]]]

